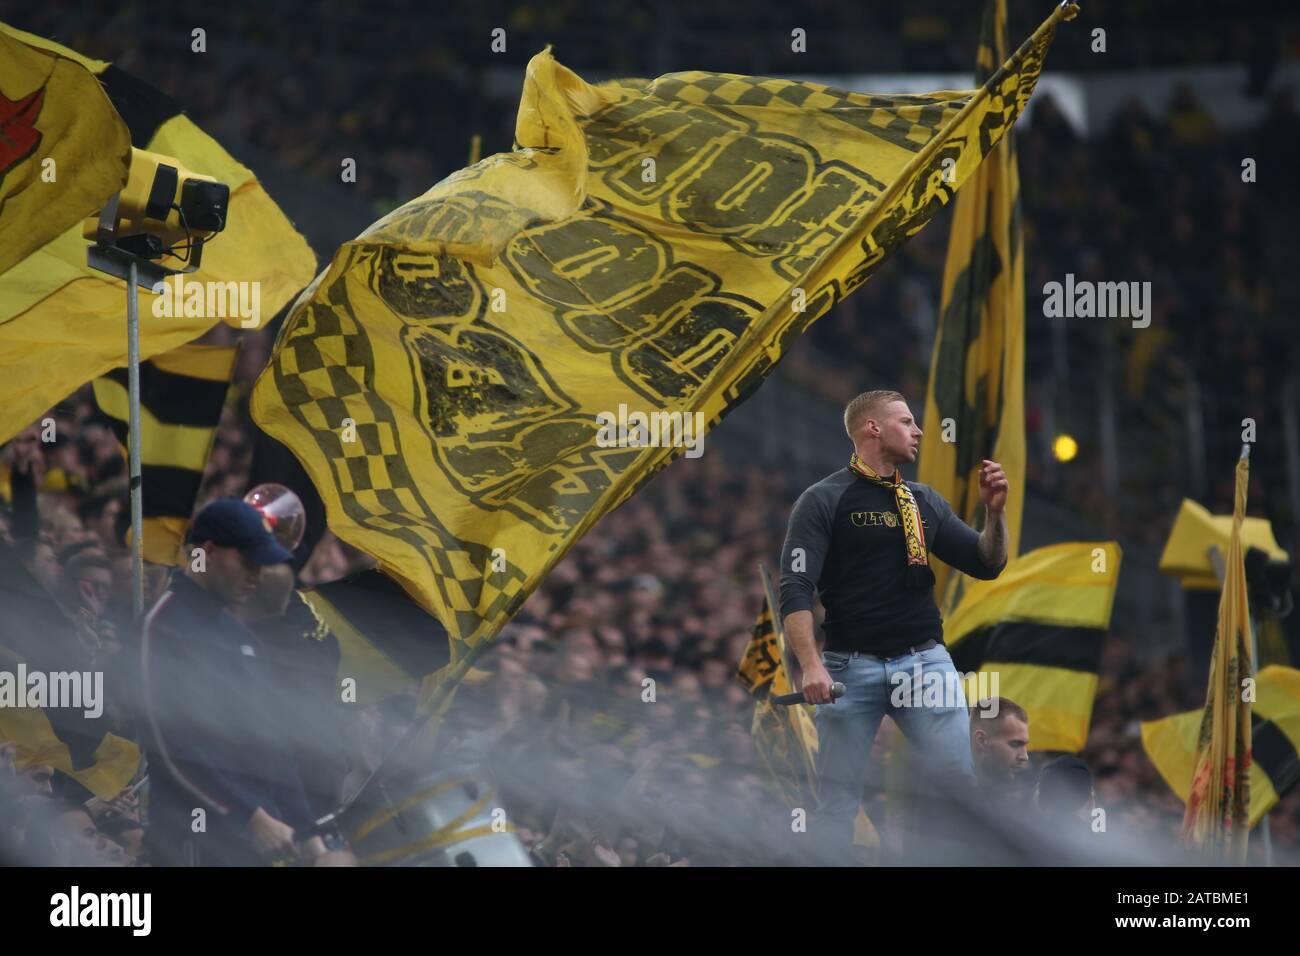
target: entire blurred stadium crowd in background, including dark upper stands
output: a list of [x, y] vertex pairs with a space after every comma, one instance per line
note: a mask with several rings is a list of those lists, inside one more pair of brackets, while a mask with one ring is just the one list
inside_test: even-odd
[[[831, 18], [826, 22], [835, 26], [833, 10], [844, 5], [809, 3], [801, 9]], [[464, 137], [458, 134], [452, 144], [443, 130], [490, 122], [499, 137], [508, 137], [510, 117], [482, 92], [486, 59], [463, 56], [451, 40], [424, 38], [428, 43], [419, 55], [380, 56], [378, 47], [403, 42], [402, 31], [376, 34], [369, 43], [378, 46], [368, 48], [352, 46], [346, 30], [335, 30], [341, 61], [350, 65], [335, 70], [311, 44], [286, 46], [291, 25], [268, 9], [239, 23], [239, 49], [221, 53], [230, 57], [230, 83], [218, 86], [196, 82], [178, 61], [156, 56], [179, 40], [142, 29], [143, 10], [124, 4], [94, 31], [78, 26], [77, 18], [56, 25], [39, 10], [17, 20], [90, 53], [112, 57], [134, 51], [118, 57], [125, 69], [173, 92], [218, 139], [252, 143], [290, 169], [335, 176], [337, 144], [346, 139], [355, 144], [354, 152], [374, 160], [377, 173], [363, 187], [377, 211], [422, 193], [460, 165]], [[530, 36], [549, 16], [558, 14], [520, 4], [507, 22]], [[897, 26], [914, 38], [898, 66], [965, 68], [970, 51], [956, 49], [945, 33], [974, 36], [974, 26], [958, 30], [949, 23], [936, 33], [924, 20], [918, 14], [915, 22]], [[486, 35], [491, 25], [485, 20], [473, 26]], [[1282, 39], [1295, 38], [1283, 31]], [[1216, 48], [1212, 40], [1227, 46]], [[1253, 43], [1257, 38], [1251, 34], [1208, 34], [1200, 53], [1214, 56], [1206, 51], [1218, 49], [1227, 56]], [[280, 59], [266, 62], [260, 56], [264, 48], [278, 49]], [[287, 57], [286, 49], [292, 51]], [[595, 69], [611, 75], [640, 72], [636, 51], [612, 43], [606, 52], [608, 59]], [[712, 52], [711, 69], [792, 69], [779, 59], [757, 66], [734, 44]], [[841, 56], [841, 62], [823, 69], [855, 69], [852, 51]], [[1165, 57], [1174, 53], [1152, 56]], [[358, 88], [367, 91], [363, 99], [354, 96]], [[351, 105], [320, 105], [334, 103]], [[1190, 91], [1180, 91], [1164, 114], [1134, 101], [1110, 129], [1084, 142], [1050, 99], [1043, 98], [1036, 109], [1018, 139], [1028, 265], [1028, 484], [1095, 520], [1101, 533], [1160, 545], [1179, 501], [1195, 490], [1191, 472], [1197, 467], [1208, 463], [1210, 476], [1202, 503], [1217, 512], [1231, 510], [1238, 423], [1252, 416], [1261, 432], [1277, 434], [1278, 384], [1300, 367], [1278, 307], [1288, 300], [1300, 273], [1288, 269], [1286, 250], [1268, 242], [1279, 209], [1294, 203], [1294, 185], [1274, 185], [1286, 178], [1277, 177], [1271, 183], [1261, 179], [1256, 189], [1240, 177], [1243, 156], [1278, 156], [1282, 144], [1297, 142], [1300, 117], [1290, 94], [1279, 92], [1258, 129], [1228, 137]], [[888, 386], [916, 397], [919, 406], [946, 221], [937, 219], [880, 276], [822, 319], [779, 375], [828, 405], [842, 406], [868, 386]], [[1062, 381], [1036, 293], [1067, 272], [1080, 278], [1140, 277], [1150, 280], [1154, 291], [1148, 329], [1069, 326], [1065, 371], [1072, 390]], [[890, 320], [872, 321], [879, 316]], [[233, 337], [222, 326], [208, 341]], [[1225, 355], [1225, 342], [1231, 355]], [[200, 502], [247, 490], [254, 428], [247, 397], [269, 349], [265, 333], [244, 338]], [[1122, 356], [1113, 368], [1102, 364], [1108, 352]], [[1124, 489], [1140, 493], [1108, 490], [1095, 408], [1097, 381], [1114, 385], [1121, 480]], [[1193, 386], [1205, 408], [1200, 463], [1190, 462], [1178, 418]], [[109, 685], [129, 688], [125, 661], [134, 648], [121, 449], [88, 388], [51, 416], [56, 441], [42, 442], [30, 431], [0, 457], [0, 497], [8, 503], [0, 522], [4, 562], [30, 572], [40, 588], [32, 601], [48, 602], [64, 622], [69, 646], [84, 669], [101, 669]], [[1053, 429], [1070, 429], [1080, 438], [1080, 455], [1069, 467], [1050, 458]], [[1261, 442], [1251, 488], [1252, 514], [1269, 516], [1279, 540], [1300, 523], [1284, 493], [1282, 454], [1280, 441]], [[662, 825], [663, 812], [650, 814], [660, 821], [656, 825], [646, 823], [645, 814], [629, 819], [628, 808], [672, 806], [682, 818], [690, 808], [707, 808], [701, 813], [715, 821], [759, 819], [771, 809], [750, 736], [754, 705], [736, 683], [734, 670], [762, 606], [757, 564], [775, 563], [798, 490], [779, 468], [753, 467], [718, 451], [679, 460], [577, 544], [485, 659], [490, 679], [462, 688], [446, 721], [446, 747], [502, 770], [506, 806], [534, 860], [614, 866], [764, 858], [746, 855], [736, 840], [710, 840], [701, 826]], [[29, 493], [35, 493], [36, 514], [22, 505]], [[1295, 544], [1290, 541], [1292, 550]], [[364, 555], [326, 536], [300, 580], [334, 580], [364, 563]], [[153, 572], [155, 596], [162, 584], [161, 574]], [[1114, 622], [1080, 756], [1092, 769], [1096, 801], [1108, 809], [1114, 831], [1173, 840], [1182, 804], [1144, 754], [1138, 724], [1199, 708], [1202, 698], [1183, 676], [1184, 658], [1147, 657], [1141, 637], [1124, 622]], [[653, 702], [644, 700], [646, 678], [656, 687]], [[374, 765], [382, 741], [407, 717], [402, 706], [372, 706], [348, 718], [341, 747], [350, 780]], [[129, 713], [110, 708], [105, 721], [109, 731], [134, 735]], [[1030, 732], [1032, 740], [1032, 727]], [[545, 737], [541, 745], [538, 734]], [[530, 766], [530, 753], [547, 754], [546, 774], [555, 775], [555, 791], [530, 788], [528, 774], [511, 773]], [[1041, 754], [1035, 758], [1041, 762]], [[566, 784], [573, 793], [618, 795], [620, 805], [567, 801]], [[883, 778], [871, 786], [867, 809], [879, 823]], [[40, 753], [0, 740], [0, 858], [143, 865], [146, 813], [147, 788], [133, 783], [108, 800], [96, 799]], [[1275, 852], [1295, 855], [1300, 792], [1283, 799], [1269, 819]], [[1252, 852], [1258, 852], [1257, 844]]]

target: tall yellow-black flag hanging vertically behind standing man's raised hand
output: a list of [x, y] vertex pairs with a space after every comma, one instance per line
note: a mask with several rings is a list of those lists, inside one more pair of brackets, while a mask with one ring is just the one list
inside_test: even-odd
[[[975, 82], [1006, 51], [1006, 0], [989, 0], [975, 61]], [[983, 520], [979, 470], [1000, 462], [1011, 484], [1006, 502], [1008, 555], [1020, 545], [1024, 509], [1024, 250], [1015, 139], [1004, 137], [953, 204], [939, 325], [926, 390], [919, 479], [967, 524]], [[935, 562], [935, 598], [954, 609], [968, 581]]]

